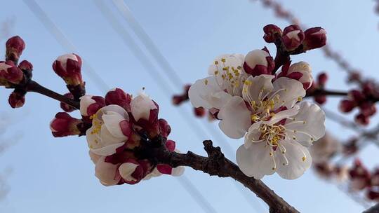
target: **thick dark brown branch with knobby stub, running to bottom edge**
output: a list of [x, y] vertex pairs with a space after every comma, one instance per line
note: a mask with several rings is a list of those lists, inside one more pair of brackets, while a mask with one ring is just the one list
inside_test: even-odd
[[165, 149], [155, 148], [151, 151], [143, 150], [147, 157], [153, 158], [157, 163], [164, 163], [172, 167], [189, 166], [211, 176], [231, 177], [239, 181], [253, 193], [258, 195], [270, 207], [271, 213], [298, 213], [294, 207], [289, 205], [283, 198], [279, 197], [272, 189], [262, 181], [247, 177], [239, 167], [225, 158], [220, 147], [214, 147], [210, 140], [204, 141], [204, 149], [208, 157], [199, 156], [191, 151], [187, 153], [170, 153]]

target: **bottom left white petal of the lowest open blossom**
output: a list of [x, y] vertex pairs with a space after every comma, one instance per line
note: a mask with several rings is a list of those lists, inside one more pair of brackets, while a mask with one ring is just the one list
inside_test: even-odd
[[253, 143], [249, 149], [244, 145], [239, 146], [236, 154], [237, 164], [246, 176], [262, 179], [265, 175], [274, 174], [271, 148], [265, 145], [265, 142]]

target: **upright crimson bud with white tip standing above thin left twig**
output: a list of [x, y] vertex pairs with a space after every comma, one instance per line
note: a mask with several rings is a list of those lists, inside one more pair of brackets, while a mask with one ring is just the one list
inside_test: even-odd
[[53, 69], [67, 85], [84, 85], [81, 78], [81, 57], [76, 54], [61, 55], [53, 63]]

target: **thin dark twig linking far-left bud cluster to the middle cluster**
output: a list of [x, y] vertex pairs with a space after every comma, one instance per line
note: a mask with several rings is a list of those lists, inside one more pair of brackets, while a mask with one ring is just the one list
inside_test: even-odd
[[70, 99], [68, 97], [65, 97], [64, 95], [60, 95], [57, 92], [54, 92], [53, 90], [49, 90], [48, 88], [45, 88], [44, 86], [40, 85], [39, 83], [36, 83], [35, 81], [30, 81], [29, 83], [27, 83], [25, 90], [27, 92], [37, 92], [39, 94], [46, 95], [60, 102], [64, 102], [65, 104], [69, 104], [70, 106], [76, 109], [79, 109], [80, 107], [79, 102], [75, 101], [74, 99]]

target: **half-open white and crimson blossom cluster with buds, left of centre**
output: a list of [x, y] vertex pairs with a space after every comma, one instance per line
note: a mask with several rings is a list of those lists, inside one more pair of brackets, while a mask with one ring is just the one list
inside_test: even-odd
[[[74, 99], [85, 92], [78, 55], [58, 57], [53, 69], [67, 83], [70, 92], [66, 97]], [[154, 143], [158, 136], [164, 137], [166, 151], [178, 152], [175, 142], [167, 139], [170, 125], [163, 118], [158, 118], [159, 105], [144, 92], [133, 97], [120, 88], [114, 88], [105, 97], [83, 95], [79, 99], [81, 118], [70, 116], [67, 112], [75, 109], [61, 103], [65, 112], [55, 115], [50, 124], [51, 131], [55, 137], [86, 135], [89, 156], [95, 164], [95, 176], [101, 184], [137, 184], [161, 174], [182, 174], [183, 167], [160, 164], [137, 152], [142, 146]]]

